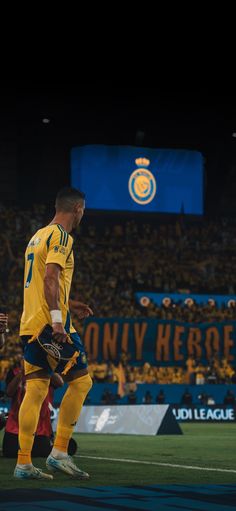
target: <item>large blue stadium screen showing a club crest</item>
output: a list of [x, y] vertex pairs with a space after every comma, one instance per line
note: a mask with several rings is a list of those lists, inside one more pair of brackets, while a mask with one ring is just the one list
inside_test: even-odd
[[203, 213], [203, 157], [198, 151], [75, 147], [71, 183], [85, 192], [88, 209]]

